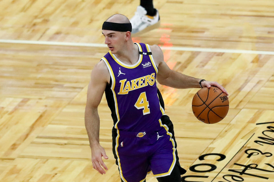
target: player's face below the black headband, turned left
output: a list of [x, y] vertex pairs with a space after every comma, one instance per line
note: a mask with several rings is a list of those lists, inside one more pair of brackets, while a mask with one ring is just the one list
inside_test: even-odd
[[112, 30], [102, 30], [102, 34], [105, 37], [105, 44], [108, 46], [108, 49], [112, 54], [115, 54], [121, 50], [123, 40], [121, 32], [116, 32]]

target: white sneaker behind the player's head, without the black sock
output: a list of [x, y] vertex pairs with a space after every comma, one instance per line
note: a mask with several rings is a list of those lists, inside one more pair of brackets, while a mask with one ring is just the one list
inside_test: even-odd
[[144, 33], [160, 26], [159, 11], [155, 16], [146, 15], [146, 9], [138, 6], [135, 15], [130, 19], [132, 25], [132, 34]]

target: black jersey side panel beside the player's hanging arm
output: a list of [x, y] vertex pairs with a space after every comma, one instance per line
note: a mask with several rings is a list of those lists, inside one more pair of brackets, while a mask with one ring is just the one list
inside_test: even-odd
[[115, 124], [115, 123], [117, 123], [118, 119], [117, 119], [116, 110], [115, 110], [115, 102], [114, 102], [113, 92], [110, 88], [111, 84], [112, 84], [112, 80], [110, 78], [109, 83], [106, 84], [105, 95], [106, 95], [106, 101], [108, 102], [108, 107], [110, 108], [110, 111], [111, 111], [111, 117]]

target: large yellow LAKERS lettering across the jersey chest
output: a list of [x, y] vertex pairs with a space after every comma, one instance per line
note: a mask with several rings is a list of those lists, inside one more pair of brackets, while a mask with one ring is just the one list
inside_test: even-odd
[[142, 76], [140, 78], [136, 78], [130, 81], [120, 80], [120, 91], [118, 94], [128, 94], [129, 91], [135, 90], [138, 88], [142, 88], [145, 86], [153, 86], [155, 82], [155, 73], [151, 75]]

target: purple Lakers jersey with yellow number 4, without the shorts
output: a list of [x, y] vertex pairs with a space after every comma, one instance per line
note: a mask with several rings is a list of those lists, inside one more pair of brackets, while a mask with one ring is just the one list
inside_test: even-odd
[[158, 68], [150, 47], [148, 44], [135, 44], [140, 54], [134, 65], [122, 63], [110, 51], [102, 58], [111, 77], [106, 98], [114, 128], [123, 131], [159, 126], [158, 120], [164, 114], [164, 102], [155, 82]]

